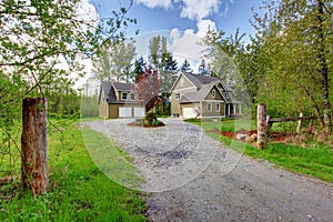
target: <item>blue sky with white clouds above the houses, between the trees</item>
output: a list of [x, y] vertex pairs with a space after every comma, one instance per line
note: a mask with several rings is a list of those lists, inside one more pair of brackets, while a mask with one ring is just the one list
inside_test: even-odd
[[[129, 0], [82, 0], [84, 11], [99, 18], [110, 17], [112, 10], [128, 7]], [[261, 0], [133, 0], [128, 17], [135, 18], [128, 37], [134, 37], [137, 58], [148, 57], [148, 44], [154, 36], [168, 37], [169, 51], [178, 63], [188, 59], [194, 70], [203, 58], [203, 47], [198, 42], [204, 37], [208, 27], [223, 30], [229, 37], [240, 28], [241, 33], [254, 34], [250, 24], [253, 18], [251, 8], [259, 9]], [[92, 7], [93, 6], [93, 7]], [[134, 36], [140, 29], [139, 36]], [[249, 38], [244, 38], [249, 41]]]

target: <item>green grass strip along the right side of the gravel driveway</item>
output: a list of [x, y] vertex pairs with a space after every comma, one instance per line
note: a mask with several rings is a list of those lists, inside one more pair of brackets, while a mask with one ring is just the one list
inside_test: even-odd
[[[276, 167], [283, 167], [286, 170], [303, 173], [319, 178], [324, 181], [333, 182], [333, 148], [322, 142], [309, 140], [303, 147], [284, 143], [269, 143], [266, 149], [258, 150], [256, 148], [230, 138], [222, 137], [210, 130], [232, 131], [239, 129], [254, 130], [255, 121], [249, 120], [222, 120], [222, 121], [194, 121], [188, 122], [202, 127], [206, 134], [223, 144], [250, 155], [255, 159], [268, 160], [275, 163]], [[295, 129], [293, 124], [273, 124], [273, 131], [289, 131]], [[290, 131], [289, 131], [290, 132]]]

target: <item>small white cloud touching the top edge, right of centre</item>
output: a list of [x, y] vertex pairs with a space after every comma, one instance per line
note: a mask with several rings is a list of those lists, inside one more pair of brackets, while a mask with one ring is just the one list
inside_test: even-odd
[[219, 12], [219, 0], [182, 0], [184, 6], [181, 11], [182, 18], [201, 20], [212, 13]]

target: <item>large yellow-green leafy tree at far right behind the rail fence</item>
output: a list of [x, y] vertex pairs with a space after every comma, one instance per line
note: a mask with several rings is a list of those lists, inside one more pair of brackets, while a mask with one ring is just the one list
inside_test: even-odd
[[268, 12], [254, 17], [262, 46], [259, 58], [266, 61], [260, 99], [283, 112], [313, 109], [330, 132], [332, 1], [283, 0], [264, 6]]

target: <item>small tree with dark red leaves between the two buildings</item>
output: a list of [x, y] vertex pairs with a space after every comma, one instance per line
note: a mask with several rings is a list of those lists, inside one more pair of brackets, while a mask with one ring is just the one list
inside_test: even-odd
[[138, 104], [144, 107], [145, 113], [148, 113], [159, 103], [160, 79], [158, 70], [144, 67], [144, 70], [135, 79], [134, 91], [138, 94]]

